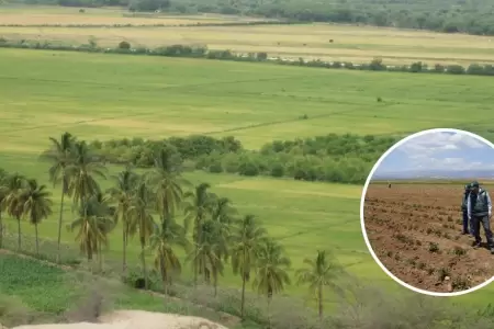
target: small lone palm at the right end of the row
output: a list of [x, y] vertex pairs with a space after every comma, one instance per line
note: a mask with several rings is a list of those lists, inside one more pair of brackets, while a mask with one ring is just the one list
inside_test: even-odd
[[333, 254], [326, 251], [317, 251], [317, 257], [304, 259], [308, 265], [306, 269], [296, 271], [297, 284], [308, 284], [308, 291], [314, 294], [317, 300], [319, 319], [323, 319], [323, 292], [325, 286], [338, 288], [335, 280], [344, 273], [344, 268], [336, 262]]

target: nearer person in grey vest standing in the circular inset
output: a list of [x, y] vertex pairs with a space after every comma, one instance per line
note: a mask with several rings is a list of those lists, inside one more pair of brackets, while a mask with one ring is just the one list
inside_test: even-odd
[[480, 226], [482, 224], [487, 239], [491, 253], [494, 254], [494, 241], [491, 230], [492, 202], [487, 191], [481, 189], [479, 182], [471, 183], [471, 193], [468, 197], [467, 212], [469, 220], [472, 222], [473, 235], [475, 237], [474, 247], [481, 246]]

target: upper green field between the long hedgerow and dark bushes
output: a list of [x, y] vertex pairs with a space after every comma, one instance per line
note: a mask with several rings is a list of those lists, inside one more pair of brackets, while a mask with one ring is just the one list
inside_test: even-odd
[[494, 101], [494, 80], [483, 77], [143, 56], [2, 49], [0, 72], [0, 147], [27, 152], [65, 129], [83, 138], [235, 134], [257, 148], [295, 136], [474, 126]]

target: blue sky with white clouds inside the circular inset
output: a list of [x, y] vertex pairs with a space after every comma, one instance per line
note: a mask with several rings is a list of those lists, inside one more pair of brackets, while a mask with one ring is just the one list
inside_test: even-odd
[[374, 174], [417, 170], [494, 170], [494, 149], [470, 135], [433, 132], [407, 140], [381, 162]]

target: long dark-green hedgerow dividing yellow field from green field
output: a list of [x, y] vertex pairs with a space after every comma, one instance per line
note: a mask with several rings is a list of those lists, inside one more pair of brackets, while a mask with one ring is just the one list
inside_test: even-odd
[[45, 49], [45, 50], [64, 50], [64, 52], [87, 52], [103, 54], [126, 54], [126, 55], [147, 55], [147, 56], [165, 56], [165, 57], [187, 57], [187, 58], [204, 58], [215, 60], [235, 60], [235, 61], [257, 61], [271, 63], [278, 65], [291, 65], [313, 68], [326, 69], [349, 69], [349, 70], [370, 70], [370, 71], [392, 71], [392, 72], [411, 72], [411, 73], [447, 73], [447, 75], [471, 75], [471, 76], [494, 76], [494, 65], [491, 64], [471, 64], [468, 67], [461, 65], [442, 65], [436, 64], [429, 66], [422, 61], [412, 63], [411, 65], [389, 66], [382, 58], [374, 58], [367, 64], [353, 64], [350, 61], [325, 61], [321, 59], [305, 60], [303, 58], [287, 59], [271, 58], [266, 52], [236, 54], [231, 50], [214, 50], [203, 46], [171, 45], [157, 48], [132, 47], [131, 43], [122, 41], [117, 47], [100, 47], [94, 39], [89, 39], [88, 44], [82, 45], [63, 45], [53, 44], [48, 41], [9, 41], [0, 36], [0, 48], [21, 48], [21, 49]]

